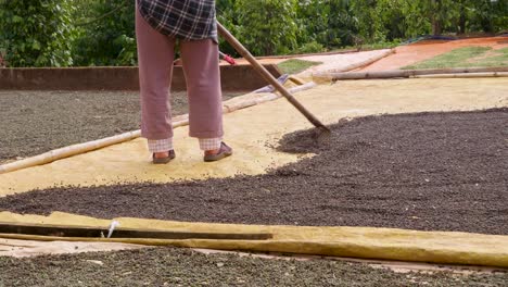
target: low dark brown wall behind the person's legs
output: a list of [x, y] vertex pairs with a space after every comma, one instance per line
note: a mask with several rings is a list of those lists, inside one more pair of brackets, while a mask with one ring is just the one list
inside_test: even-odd
[[[264, 65], [275, 77], [277, 65]], [[254, 90], [268, 85], [251, 65], [221, 65], [223, 90]], [[185, 90], [181, 66], [175, 66], [173, 89]], [[137, 67], [0, 68], [0, 89], [17, 90], [138, 90]]]

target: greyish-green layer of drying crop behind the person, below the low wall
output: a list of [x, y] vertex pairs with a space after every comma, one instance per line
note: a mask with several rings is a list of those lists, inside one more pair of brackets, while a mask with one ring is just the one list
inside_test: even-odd
[[[224, 100], [243, 92], [225, 92]], [[173, 114], [187, 93], [172, 93]], [[137, 91], [0, 91], [0, 163], [139, 129]]]

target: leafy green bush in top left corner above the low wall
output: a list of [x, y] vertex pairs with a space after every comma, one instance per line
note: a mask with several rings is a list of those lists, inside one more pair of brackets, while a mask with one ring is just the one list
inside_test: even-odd
[[68, 0], [0, 1], [0, 51], [9, 66], [69, 66], [76, 37]]

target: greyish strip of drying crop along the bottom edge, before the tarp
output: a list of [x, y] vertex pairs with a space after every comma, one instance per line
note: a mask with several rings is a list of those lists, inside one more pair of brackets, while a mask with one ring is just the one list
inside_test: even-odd
[[506, 286], [508, 273], [394, 273], [330, 260], [295, 261], [153, 248], [0, 258], [0, 286]]

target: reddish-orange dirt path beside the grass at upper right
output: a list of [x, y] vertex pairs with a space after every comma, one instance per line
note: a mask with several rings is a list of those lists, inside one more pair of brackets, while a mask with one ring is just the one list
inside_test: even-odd
[[403, 66], [434, 58], [454, 49], [471, 46], [492, 47], [497, 50], [508, 47], [508, 37], [473, 38], [455, 41], [420, 41], [407, 46], [399, 46], [395, 48], [394, 54], [368, 65], [360, 71], [399, 70]]

